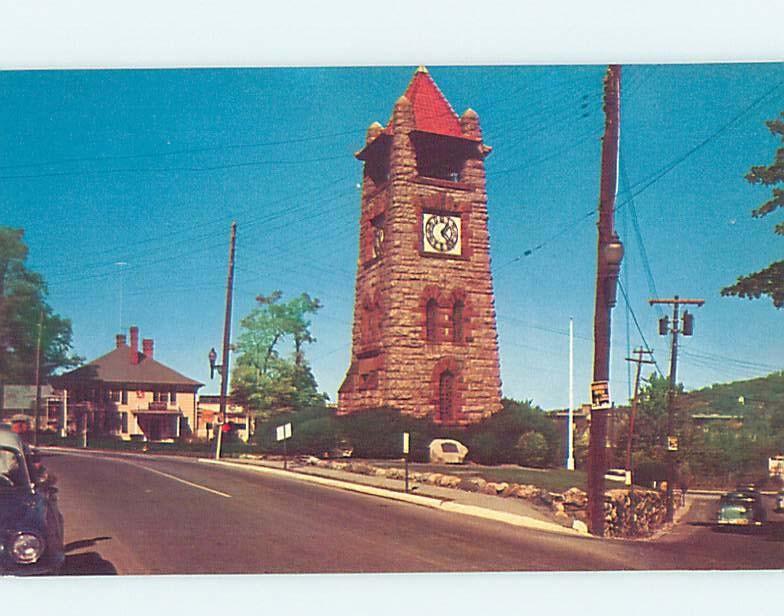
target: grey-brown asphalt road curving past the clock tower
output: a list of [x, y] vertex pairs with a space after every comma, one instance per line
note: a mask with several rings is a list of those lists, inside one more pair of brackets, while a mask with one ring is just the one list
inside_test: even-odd
[[190, 460], [47, 453], [64, 575], [784, 568], [784, 516], [717, 532], [694, 501], [655, 541], [511, 527]]

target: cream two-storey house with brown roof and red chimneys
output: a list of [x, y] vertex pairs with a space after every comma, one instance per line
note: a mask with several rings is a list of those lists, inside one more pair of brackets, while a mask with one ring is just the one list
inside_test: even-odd
[[115, 348], [51, 380], [67, 392], [69, 430], [86, 423], [93, 434], [123, 440], [170, 441], [197, 424], [196, 396], [203, 383], [154, 358], [154, 341], [130, 328], [130, 344], [118, 334]]

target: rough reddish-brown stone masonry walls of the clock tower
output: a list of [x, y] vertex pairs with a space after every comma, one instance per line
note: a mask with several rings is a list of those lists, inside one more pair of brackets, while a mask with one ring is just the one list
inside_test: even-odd
[[[373, 186], [363, 192], [362, 232], [368, 220], [383, 211], [385, 247], [383, 258], [369, 266], [360, 237], [352, 368], [366, 371], [369, 362], [378, 370], [375, 389], [359, 390], [360, 376], [341, 388], [339, 412], [387, 405], [420, 417], [434, 416], [438, 403], [438, 379], [444, 369], [456, 374], [460, 413], [452, 423], [478, 421], [500, 409], [500, 370], [495, 308], [490, 274], [487, 197], [483, 157], [476, 114], [468, 111], [461, 124], [464, 133], [477, 138], [476, 151], [466, 162], [460, 182], [419, 178], [411, 131], [414, 118], [410, 103], [401, 97], [395, 104], [390, 152], [390, 177], [382, 191]], [[373, 127], [371, 127], [373, 129]], [[369, 133], [370, 137], [370, 133]], [[368, 181], [366, 180], [366, 184]], [[383, 202], [382, 206], [376, 205]], [[422, 212], [459, 212], [462, 219], [462, 257], [426, 255], [421, 247]], [[423, 296], [435, 290], [439, 304], [437, 340], [424, 335]], [[464, 302], [464, 340], [452, 341], [451, 311], [455, 298]], [[367, 314], [363, 302], [378, 298], [379, 340], [377, 355], [363, 344]], [[351, 383], [354, 383], [352, 388]]]

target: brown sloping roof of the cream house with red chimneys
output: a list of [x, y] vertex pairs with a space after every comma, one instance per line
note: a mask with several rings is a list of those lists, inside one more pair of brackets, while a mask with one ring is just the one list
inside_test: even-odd
[[201, 387], [204, 383], [199, 383], [189, 379], [164, 366], [159, 361], [146, 357], [137, 351], [138, 363], [131, 362], [131, 349], [127, 344], [123, 344], [91, 361], [89, 364], [81, 366], [76, 370], [71, 370], [58, 377], [63, 381], [72, 382], [76, 380], [103, 381], [105, 383], [136, 383], [150, 385], [187, 385], [190, 387]]

